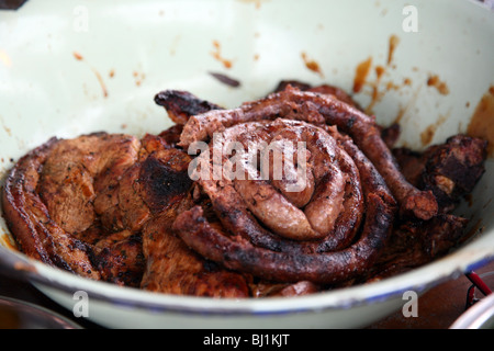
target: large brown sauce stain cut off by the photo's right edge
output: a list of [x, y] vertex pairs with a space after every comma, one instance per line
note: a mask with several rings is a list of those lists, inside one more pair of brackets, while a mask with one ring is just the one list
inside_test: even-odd
[[494, 156], [494, 86], [491, 86], [476, 105], [467, 134], [487, 140], [489, 156]]

